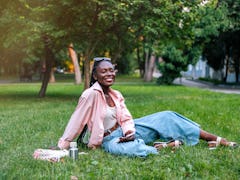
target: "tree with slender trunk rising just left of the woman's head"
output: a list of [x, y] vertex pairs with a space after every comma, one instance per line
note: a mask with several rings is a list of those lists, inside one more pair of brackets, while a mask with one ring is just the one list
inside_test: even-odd
[[111, 45], [114, 43], [118, 45], [116, 56], [121, 53], [121, 36], [128, 31], [134, 2], [111, 0], [61, 2], [66, 16], [61, 20], [60, 27], [67, 32], [74, 45], [81, 47], [84, 59], [84, 87], [87, 88], [90, 79], [90, 61], [94, 54], [97, 52], [99, 55], [104, 55], [112, 50]]

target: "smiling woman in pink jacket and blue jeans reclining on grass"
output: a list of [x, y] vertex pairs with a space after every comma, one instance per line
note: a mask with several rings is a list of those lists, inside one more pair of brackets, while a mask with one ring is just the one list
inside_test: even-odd
[[[68, 149], [87, 125], [88, 147], [102, 147], [112, 154], [147, 156], [165, 147], [196, 145], [199, 139], [218, 145], [235, 147], [235, 142], [210, 134], [188, 118], [172, 111], [163, 111], [133, 120], [122, 94], [110, 88], [115, 69], [109, 58], [95, 58], [90, 88], [85, 90], [72, 114], [58, 147]], [[165, 142], [155, 142], [157, 139]]]

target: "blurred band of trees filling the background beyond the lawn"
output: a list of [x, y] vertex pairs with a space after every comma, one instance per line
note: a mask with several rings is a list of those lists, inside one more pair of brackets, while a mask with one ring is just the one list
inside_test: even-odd
[[239, 84], [239, 0], [0, 0], [0, 79], [88, 87], [96, 56], [118, 74]]

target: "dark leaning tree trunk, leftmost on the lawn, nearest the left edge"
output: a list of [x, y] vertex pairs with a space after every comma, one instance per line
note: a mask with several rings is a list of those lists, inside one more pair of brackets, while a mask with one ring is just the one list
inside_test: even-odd
[[52, 49], [50, 48], [50, 39], [47, 36], [44, 36], [43, 38], [44, 38], [44, 44], [45, 44], [46, 71], [44, 72], [42, 86], [38, 94], [38, 96], [41, 98], [45, 97], [46, 95], [47, 86], [48, 86], [48, 82], [50, 79], [50, 74], [51, 74], [51, 70], [54, 62], [54, 54], [52, 52]]

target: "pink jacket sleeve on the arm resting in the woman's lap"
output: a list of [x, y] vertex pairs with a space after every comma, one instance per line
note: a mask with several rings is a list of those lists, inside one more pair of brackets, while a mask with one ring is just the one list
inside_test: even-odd
[[120, 92], [119, 94], [120, 94], [119, 100], [120, 100], [120, 108], [121, 108], [120, 125], [122, 127], [123, 133], [125, 134], [127, 131], [132, 131], [135, 133], [136, 130], [135, 130], [135, 125], [134, 125], [132, 115], [127, 109], [127, 106], [124, 101], [124, 97]]

